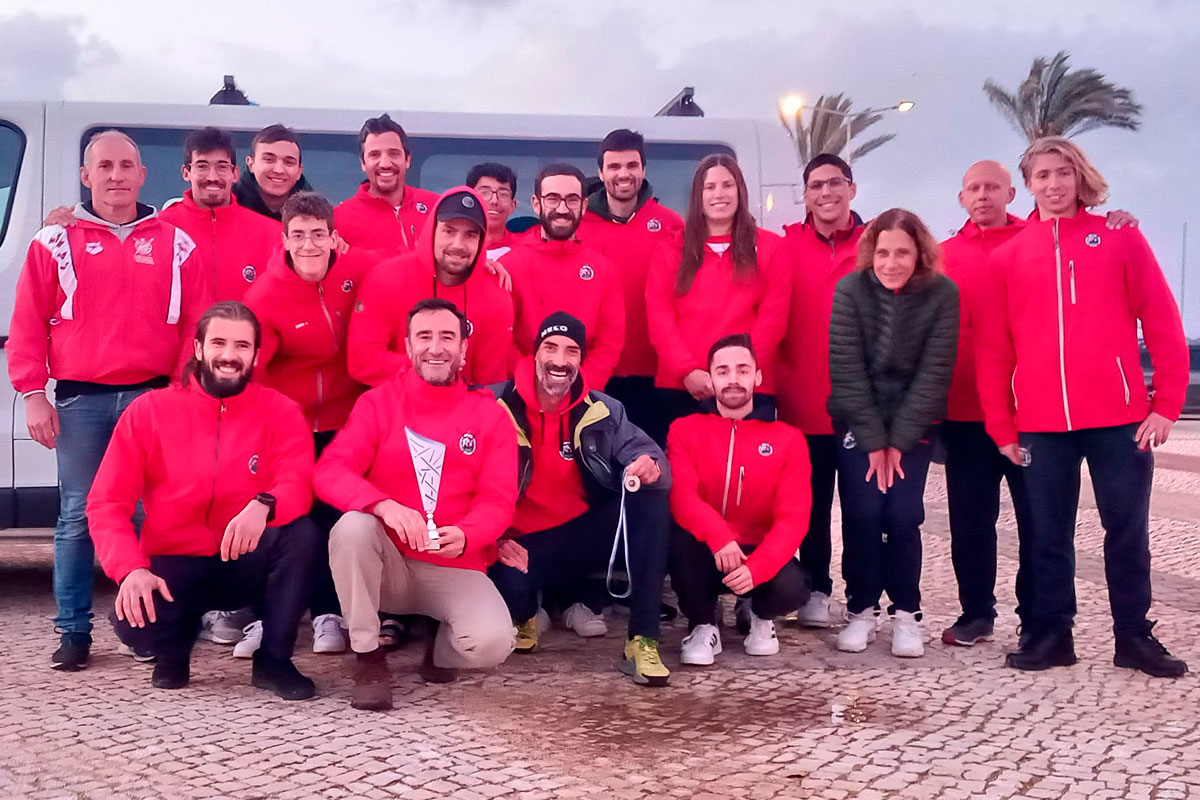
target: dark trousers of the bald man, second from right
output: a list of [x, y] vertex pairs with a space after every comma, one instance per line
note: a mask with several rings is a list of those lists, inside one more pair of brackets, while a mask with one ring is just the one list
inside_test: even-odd
[[996, 616], [996, 521], [1000, 483], [1008, 481], [1016, 512], [1016, 615], [1028, 625], [1033, 608], [1030, 569], [1033, 523], [1020, 467], [1001, 455], [983, 422], [944, 422], [946, 494], [950, 516], [950, 559], [959, 583], [964, 620]]

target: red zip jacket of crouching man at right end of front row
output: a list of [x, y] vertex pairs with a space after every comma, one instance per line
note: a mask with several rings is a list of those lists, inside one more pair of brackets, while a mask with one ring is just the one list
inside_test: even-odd
[[715, 553], [730, 542], [755, 548], [755, 585], [796, 555], [809, 528], [809, 447], [784, 422], [692, 414], [671, 423], [671, 513]]

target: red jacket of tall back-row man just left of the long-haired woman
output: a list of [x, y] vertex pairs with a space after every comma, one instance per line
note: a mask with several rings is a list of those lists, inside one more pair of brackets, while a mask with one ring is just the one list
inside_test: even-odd
[[580, 239], [617, 266], [625, 289], [625, 347], [613, 371], [618, 378], [655, 374], [658, 356], [646, 321], [646, 278], [659, 245], [682, 231], [683, 218], [653, 197], [625, 222], [602, 217], [590, 207], [583, 215]]

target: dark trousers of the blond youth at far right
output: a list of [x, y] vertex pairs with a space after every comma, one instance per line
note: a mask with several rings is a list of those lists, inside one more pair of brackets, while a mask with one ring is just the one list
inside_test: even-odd
[[1033, 521], [1032, 628], [1064, 630], [1075, 620], [1075, 516], [1079, 468], [1087, 459], [1104, 527], [1104, 573], [1117, 636], [1150, 630], [1150, 489], [1154, 457], [1138, 450], [1136, 425], [1068, 433], [1022, 433], [1025, 486]]

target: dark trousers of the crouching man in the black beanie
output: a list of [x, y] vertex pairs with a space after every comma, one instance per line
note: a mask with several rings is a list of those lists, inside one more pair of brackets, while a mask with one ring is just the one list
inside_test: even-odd
[[[547, 589], [571, 593], [589, 576], [608, 569], [619, 498], [595, 506], [557, 528], [526, 534], [518, 541], [529, 552], [529, 571], [497, 561], [487, 575], [522, 621], [538, 613], [538, 594]], [[649, 488], [625, 495], [629, 531], [629, 636], [659, 636], [662, 579], [667, 567], [667, 493]], [[624, 569], [624, 548], [616, 569]], [[593, 603], [588, 603], [589, 606]], [[593, 607], [593, 610], [600, 610]]]

